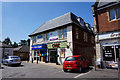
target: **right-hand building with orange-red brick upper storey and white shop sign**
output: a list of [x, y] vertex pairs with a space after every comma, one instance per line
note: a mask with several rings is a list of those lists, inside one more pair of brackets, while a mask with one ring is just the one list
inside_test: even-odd
[[[120, 54], [120, 1], [102, 2], [92, 6], [97, 62], [117, 62]], [[105, 66], [105, 65], [104, 65]]]

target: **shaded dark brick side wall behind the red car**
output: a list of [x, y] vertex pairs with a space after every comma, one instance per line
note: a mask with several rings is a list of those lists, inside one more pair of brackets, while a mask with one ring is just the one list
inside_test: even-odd
[[81, 54], [89, 60], [90, 64], [93, 64], [92, 59], [95, 55], [95, 48], [94, 48], [95, 41], [94, 41], [94, 44], [91, 43], [91, 36], [94, 36], [94, 35], [87, 32], [88, 41], [85, 42], [84, 41], [84, 30], [81, 28], [78, 28], [79, 38], [76, 39], [76, 27], [77, 27], [76, 25], [73, 25], [73, 28], [72, 28], [73, 30], [72, 31], [73, 32], [73, 55]]

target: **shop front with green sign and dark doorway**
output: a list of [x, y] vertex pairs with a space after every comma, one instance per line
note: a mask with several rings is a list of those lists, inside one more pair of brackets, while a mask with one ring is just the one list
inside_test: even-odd
[[48, 61], [51, 63], [60, 63], [62, 64], [65, 59], [65, 54], [67, 50], [67, 42], [55, 42], [48, 43]]

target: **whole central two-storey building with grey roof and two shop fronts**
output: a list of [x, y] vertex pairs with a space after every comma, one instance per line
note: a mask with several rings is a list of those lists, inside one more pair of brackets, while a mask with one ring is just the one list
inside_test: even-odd
[[30, 61], [63, 64], [67, 56], [81, 54], [92, 63], [95, 55], [90, 25], [71, 12], [44, 23], [29, 37]]

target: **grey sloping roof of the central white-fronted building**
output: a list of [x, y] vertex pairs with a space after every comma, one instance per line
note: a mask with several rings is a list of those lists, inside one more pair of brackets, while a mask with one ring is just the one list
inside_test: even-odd
[[59, 16], [57, 18], [54, 18], [48, 22], [45, 22], [43, 25], [41, 25], [38, 29], [36, 29], [33, 33], [31, 33], [29, 36], [33, 36], [35, 34], [48, 31], [51, 29], [55, 29], [70, 23], [75, 23], [79, 25], [81, 28], [87, 29], [86, 27], [82, 27], [78, 22], [78, 17], [74, 15], [72, 12], [69, 12], [67, 14], [64, 14], [62, 16]]

